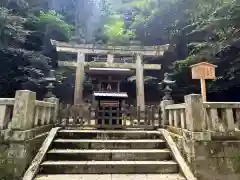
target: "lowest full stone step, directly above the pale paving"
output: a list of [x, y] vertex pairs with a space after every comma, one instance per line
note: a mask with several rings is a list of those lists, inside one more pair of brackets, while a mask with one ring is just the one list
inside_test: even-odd
[[45, 161], [40, 174], [171, 174], [174, 161]]

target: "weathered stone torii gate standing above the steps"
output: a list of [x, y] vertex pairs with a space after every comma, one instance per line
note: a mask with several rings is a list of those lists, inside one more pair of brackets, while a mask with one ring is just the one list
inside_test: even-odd
[[[169, 45], [161, 46], [101, 46], [92, 44], [65, 43], [51, 40], [53, 46], [58, 52], [77, 53], [77, 61], [59, 61], [59, 66], [76, 68], [74, 104], [83, 102], [83, 82], [84, 69], [88, 68], [118, 68], [136, 70], [136, 89], [137, 89], [137, 106], [141, 110], [145, 107], [144, 98], [144, 70], [160, 70], [159, 64], [144, 64], [143, 56], [163, 56], [165, 51], [169, 50]], [[107, 55], [107, 62], [86, 62], [87, 54]], [[114, 55], [133, 56], [135, 63], [116, 63]]]

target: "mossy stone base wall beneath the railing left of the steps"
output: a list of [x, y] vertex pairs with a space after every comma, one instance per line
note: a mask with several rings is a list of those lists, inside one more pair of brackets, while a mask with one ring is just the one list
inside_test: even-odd
[[0, 131], [0, 179], [19, 180], [41, 147], [52, 125], [26, 131]]

